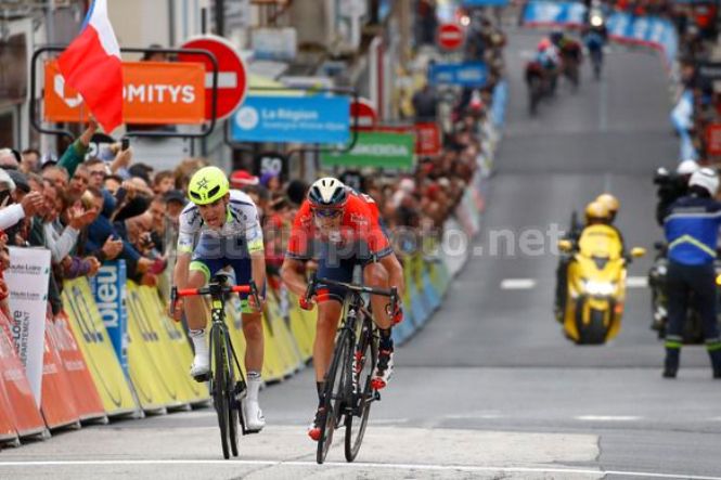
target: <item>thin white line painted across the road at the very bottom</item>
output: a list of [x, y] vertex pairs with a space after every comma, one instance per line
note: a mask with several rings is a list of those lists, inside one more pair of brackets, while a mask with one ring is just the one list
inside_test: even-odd
[[721, 477], [707, 477], [698, 475], [684, 473], [654, 473], [649, 471], [626, 471], [626, 470], [600, 470], [591, 468], [542, 468], [542, 467], [478, 467], [475, 465], [428, 465], [428, 464], [382, 464], [355, 462], [327, 462], [325, 467], [319, 466], [316, 462], [283, 462], [283, 460], [201, 460], [201, 459], [146, 459], [146, 460], [41, 460], [41, 462], [0, 462], [2, 467], [67, 467], [67, 466], [127, 466], [127, 465], [248, 465], [248, 466], [269, 466], [269, 467], [308, 467], [308, 468], [375, 468], [390, 470], [426, 470], [426, 471], [467, 471], [467, 472], [501, 472], [501, 473], [574, 473], [593, 477], [604, 476], [626, 476], [626, 477], [645, 477], [662, 479], [688, 479], [688, 480], [721, 480]]

